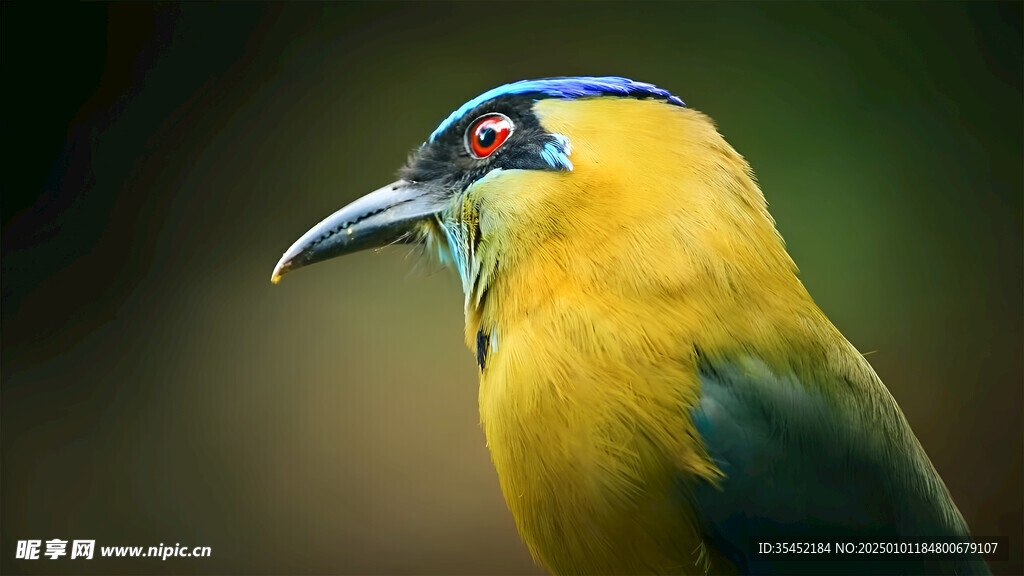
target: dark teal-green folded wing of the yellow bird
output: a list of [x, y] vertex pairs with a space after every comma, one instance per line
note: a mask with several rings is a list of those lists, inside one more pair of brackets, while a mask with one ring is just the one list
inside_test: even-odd
[[977, 558], [780, 562], [754, 553], [758, 542], [970, 540], [899, 408], [866, 373], [866, 386], [838, 377], [828, 388], [753, 357], [700, 357], [701, 400], [691, 416], [725, 478], [696, 486], [693, 504], [706, 541], [741, 573], [990, 573]]

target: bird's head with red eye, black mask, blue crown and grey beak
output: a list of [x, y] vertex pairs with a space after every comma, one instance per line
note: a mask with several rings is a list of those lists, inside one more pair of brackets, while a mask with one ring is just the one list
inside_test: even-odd
[[710, 119], [651, 84], [495, 88], [441, 122], [399, 175], [303, 235], [272, 281], [397, 242], [454, 263], [468, 316], [503, 282], [523, 303], [567, 283], [643, 296], [793, 277], [746, 163]]

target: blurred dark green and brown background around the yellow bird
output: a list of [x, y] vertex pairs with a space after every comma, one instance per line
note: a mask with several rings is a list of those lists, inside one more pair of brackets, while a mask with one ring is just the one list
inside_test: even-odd
[[[1020, 3], [0, 10], [0, 572], [539, 573], [455, 276], [401, 248], [269, 276], [466, 99], [607, 74], [716, 119], [1024, 571]], [[29, 538], [213, 557], [14, 560]]]

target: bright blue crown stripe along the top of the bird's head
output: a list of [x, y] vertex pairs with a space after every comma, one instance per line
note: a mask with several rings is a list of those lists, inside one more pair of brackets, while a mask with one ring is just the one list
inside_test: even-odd
[[618, 76], [579, 76], [567, 78], [544, 78], [541, 80], [520, 80], [483, 92], [453, 112], [431, 132], [430, 141], [447, 130], [460, 118], [481, 104], [509, 94], [540, 93], [554, 98], [581, 98], [586, 96], [633, 96], [668, 100], [685, 107], [686, 104], [668, 90], [663, 90], [646, 82], [634, 82]]

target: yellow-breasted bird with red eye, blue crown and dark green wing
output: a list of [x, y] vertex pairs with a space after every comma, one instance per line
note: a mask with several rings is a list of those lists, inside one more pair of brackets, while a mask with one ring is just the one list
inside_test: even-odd
[[989, 573], [877, 553], [971, 534], [800, 281], [749, 163], [668, 90], [487, 90], [271, 280], [395, 243], [459, 276], [490, 459], [551, 573]]

